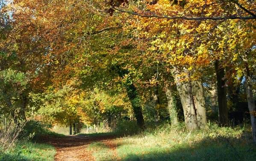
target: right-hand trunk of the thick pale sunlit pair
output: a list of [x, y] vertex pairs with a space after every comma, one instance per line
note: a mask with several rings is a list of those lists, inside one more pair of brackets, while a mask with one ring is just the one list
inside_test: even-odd
[[191, 81], [192, 85], [192, 94], [194, 98], [194, 106], [197, 114], [197, 125], [200, 129], [204, 129], [206, 121], [206, 109], [205, 109], [205, 100], [203, 92], [203, 84], [201, 80]]

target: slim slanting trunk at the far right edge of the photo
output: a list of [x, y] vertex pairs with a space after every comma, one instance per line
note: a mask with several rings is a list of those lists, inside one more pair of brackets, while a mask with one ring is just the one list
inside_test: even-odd
[[256, 143], [256, 106], [253, 98], [252, 80], [250, 75], [246, 76], [246, 93], [252, 124], [253, 142]]

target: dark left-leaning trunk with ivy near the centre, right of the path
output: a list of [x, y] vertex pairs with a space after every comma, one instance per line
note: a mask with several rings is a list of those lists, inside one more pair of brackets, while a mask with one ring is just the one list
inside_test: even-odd
[[131, 101], [132, 109], [133, 109], [135, 118], [137, 120], [137, 124], [141, 129], [145, 129], [144, 118], [142, 115], [142, 108], [140, 105], [140, 99], [138, 97], [137, 89], [132, 83], [127, 85], [126, 88], [127, 88], [128, 98]]

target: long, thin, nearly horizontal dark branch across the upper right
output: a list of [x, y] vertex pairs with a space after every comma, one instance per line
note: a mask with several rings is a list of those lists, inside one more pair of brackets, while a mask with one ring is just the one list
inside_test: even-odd
[[[156, 17], [156, 18], [160, 18], [160, 19], [169, 19], [169, 20], [174, 20], [174, 19], [182, 19], [182, 20], [234, 20], [234, 19], [239, 19], [239, 20], [251, 20], [251, 19], [256, 19], [256, 17], [254, 16], [237, 16], [237, 15], [231, 15], [231, 16], [219, 16], [219, 17], [186, 17], [186, 16], [173, 16], [173, 17], [169, 17], [169, 16], [159, 16], [159, 15], [154, 15], [154, 14], [139, 14], [136, 12], [132, 12], [132, 11], [125, 11], [122, 9], [116, 9], [117, 11], [123, 12], [123, 13], [128, 13], [128, 14], [132, 14], [135, 16], [139, 16], [139, 17]], [[250, 11], [249, 11], [250, 12]]]

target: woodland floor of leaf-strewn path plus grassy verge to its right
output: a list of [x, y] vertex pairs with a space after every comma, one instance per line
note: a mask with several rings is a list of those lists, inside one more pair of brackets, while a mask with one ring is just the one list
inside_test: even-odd
[[254, 161], [256, 158], [250, 126], [209, 124], [209, 129], [191, 132], [166, 125], [136, 135], [109, 132], [41, 139], [55, 147], [56, 161]]

